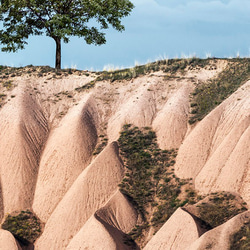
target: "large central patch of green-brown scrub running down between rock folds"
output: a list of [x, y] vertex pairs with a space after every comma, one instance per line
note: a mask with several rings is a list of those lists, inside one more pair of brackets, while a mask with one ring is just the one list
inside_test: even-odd
[[[179, 197], [181, 187], [189, 181], [173, 174], [177, 151], [159, 149], [151, 128], [124, 125], [118, 142], [126, 167], [119, 187], [144, 220], [144, 223], [135, 226], [130, 236], [140, 239], [150, 226], [158, 230], [178, 207], [192, 204], [196, 196], [186, 192], [182, 198]], [[148, 215], [149, 210], [153, 211], [151, 216]]]

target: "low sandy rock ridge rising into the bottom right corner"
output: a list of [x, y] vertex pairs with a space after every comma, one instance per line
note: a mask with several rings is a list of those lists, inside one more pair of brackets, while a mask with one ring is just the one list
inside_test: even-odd
[[244, 223], [250, 221], [250, 211], [241, 213], [227, 221], [226, 223], [206, 232], [196, 240], [187, 250], [221, 249], [230, 248], [232, 235], [240, 230]]

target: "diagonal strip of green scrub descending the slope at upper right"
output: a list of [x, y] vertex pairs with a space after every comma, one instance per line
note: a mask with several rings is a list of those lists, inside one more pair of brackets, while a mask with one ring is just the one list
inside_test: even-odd
[[228, 60], [216, 79], [196, 86], [191, 101], [190, 124], [202, 120], [210, 111], [235, 92], [250, 77], [250, 59]]

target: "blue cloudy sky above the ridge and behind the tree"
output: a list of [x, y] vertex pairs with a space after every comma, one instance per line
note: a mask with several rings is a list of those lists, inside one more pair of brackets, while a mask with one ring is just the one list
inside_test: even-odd
[[[249, 0], [130, 0], [125, 31], [106, 30], [107, 43], [87, 45], [72, 37], [62, 44], [62, 68], [103, 70], [165, 58], [249, 57]], [[1, 45], [0, 45], [1, 47]], [[17, 53], [0, 52], [0, 65], [54, 66], [55, 42], [33, 36]]]

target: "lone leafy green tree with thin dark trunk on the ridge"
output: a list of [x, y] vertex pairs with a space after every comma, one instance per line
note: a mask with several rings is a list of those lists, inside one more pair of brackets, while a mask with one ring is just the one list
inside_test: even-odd
[[56, 69], [61, 68], [61, 41], [84, 37], [87, 44], [106, 43], [111, 25], [124, 30], [121, 19], [133, 9], [129, 0], [0, 0], [2, 51], [24, 49], [31, 35], [45, 34], [56, 43]]

